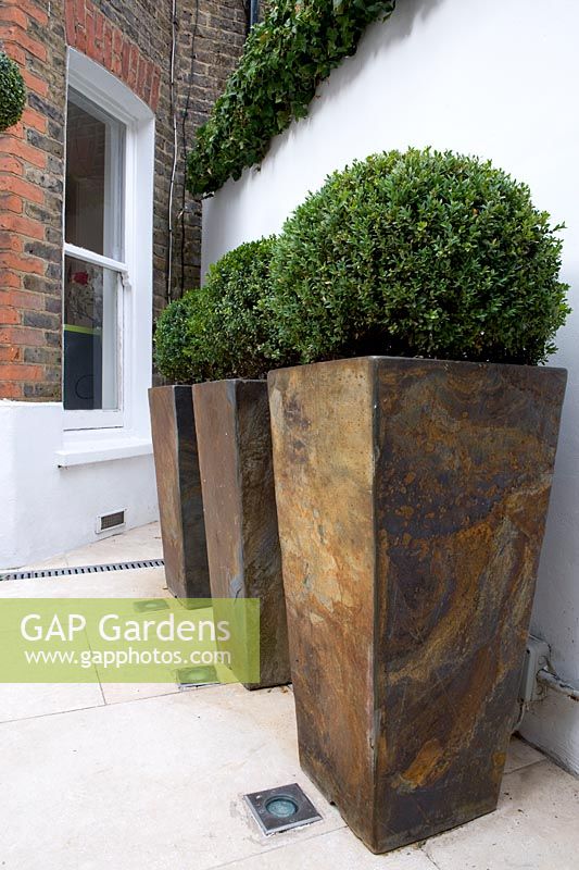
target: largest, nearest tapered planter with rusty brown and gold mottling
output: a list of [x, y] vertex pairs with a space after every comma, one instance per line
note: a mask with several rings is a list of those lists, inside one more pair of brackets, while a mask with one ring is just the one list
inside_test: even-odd
[[269, 374], [300, 759], [373, 852], [496, 807], [565, 384], [385, 357]]

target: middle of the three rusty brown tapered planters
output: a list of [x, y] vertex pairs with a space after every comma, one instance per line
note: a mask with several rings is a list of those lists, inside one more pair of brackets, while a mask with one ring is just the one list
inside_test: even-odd
[[290, 682], [265, 381], [193, 386], [211, 591], [260, 599], [259, 683]]

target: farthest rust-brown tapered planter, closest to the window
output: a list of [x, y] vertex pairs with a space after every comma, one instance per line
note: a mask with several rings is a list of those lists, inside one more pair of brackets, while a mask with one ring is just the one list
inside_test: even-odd
[[190, 386], [149, 390], [167, 588], [209, 598], [209, 564]]

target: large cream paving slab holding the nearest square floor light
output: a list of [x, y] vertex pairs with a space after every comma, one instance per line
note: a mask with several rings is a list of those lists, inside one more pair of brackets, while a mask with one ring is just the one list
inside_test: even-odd
[[[343, 826], [300, 770], [287, 691], [179, 693], [4, 723], [0, 739], [10, 869], [209, 870]], [[289, 782], [323, 821], [266, 840], [242, 795]]]

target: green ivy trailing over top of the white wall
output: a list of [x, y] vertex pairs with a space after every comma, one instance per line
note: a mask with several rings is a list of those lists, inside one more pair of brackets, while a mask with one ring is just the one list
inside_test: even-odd
[[207, 196], [260, 163], [272, 138], [304, 117], [319, 83], [355, 53], [365, 28], [395, 0], [280, 0], [255, 25], [237, 70], [197, 132], [188, 186]]

